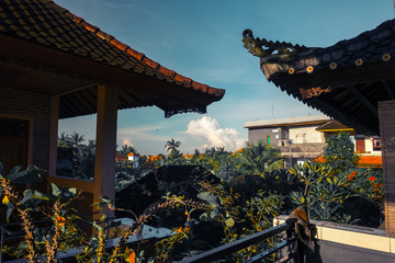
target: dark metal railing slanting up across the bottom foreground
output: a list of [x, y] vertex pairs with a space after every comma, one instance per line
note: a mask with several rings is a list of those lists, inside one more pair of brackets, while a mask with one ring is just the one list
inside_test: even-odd
[[266, 229], [261, 232], [236, 240], [232, 243], [227, 243], [206, 252], [196, 254], [192, 258], [184, 259], [179, 263], [203, 263], [226, 260], [229, 255], [232, 255], [232, 253], [257, 244], [258, 242], [264, 241], [267, 239], [278, 237], [281, 233], [283, 233], [283, 240], [278, 241], [274, 247], [251, 256], [245, 263], [267, 262], [264, 258], [280, 251], [281, 253], [276, 253], [275, 255], [275, 262], [303, 263], [304, 248], [303, 243], [301, 243], [297, 239], [297, 235], [294, 229], [295, 221], [296, 218], [289, 219], [284, 224], [276, 227]]

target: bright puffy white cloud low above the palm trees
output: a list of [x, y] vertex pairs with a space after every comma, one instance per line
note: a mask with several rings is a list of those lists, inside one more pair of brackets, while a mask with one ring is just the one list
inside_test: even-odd
[[203, 148], [224, 147], [226, 150], [237, 150], [245, 145], [245, 139], [239, 138], [239, 133], [234, 128], [221, 128], [215, 118], [203, 116], [199, 119], [191, 121], [184, 134], [204, 137], [208, 144]]

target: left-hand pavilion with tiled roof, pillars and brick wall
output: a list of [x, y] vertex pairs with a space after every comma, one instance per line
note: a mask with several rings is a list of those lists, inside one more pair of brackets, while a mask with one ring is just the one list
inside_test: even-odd
[[[0, 161], [8, 170], [32, 163], [47, 170], [47, 182], [84, 191], [84, 207], [101, 195], [114, 197], [117, 110], [158, 106], [166, 117], [205, 113], [224, 93], [53, 1], [0, 1]], [[94, 113], [94, 180], [57, 176], [58, 119]]]

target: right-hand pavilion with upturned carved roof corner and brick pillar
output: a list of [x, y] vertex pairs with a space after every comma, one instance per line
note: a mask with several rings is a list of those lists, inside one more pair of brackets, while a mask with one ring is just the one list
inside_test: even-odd
[[395, 20], [325, 48], [242, 34], [267, 79], [359, 134], [382, 138], [385, 227], [395, 233]]

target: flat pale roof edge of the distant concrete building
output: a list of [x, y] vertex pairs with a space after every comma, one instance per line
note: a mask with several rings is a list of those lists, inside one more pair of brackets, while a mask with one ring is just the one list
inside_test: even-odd
[[314, 116], [301, 116], [301, 117], [290, 117], [290, 118], [272, 118], [263, 119], [256, 122], [245, 123], [245, 128], [253, 127], [272, 127], [272, 126], [283, 126], [283, 125], [306, 125], [306, 124], [319, 124], [330, 121], [330, 117], [326, 115], [314, 115]]

